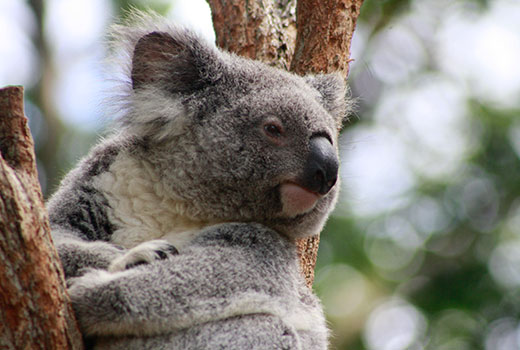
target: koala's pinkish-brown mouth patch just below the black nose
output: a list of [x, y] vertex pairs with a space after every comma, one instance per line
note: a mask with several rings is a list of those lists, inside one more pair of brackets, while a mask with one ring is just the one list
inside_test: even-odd
[[314, 209], [321, 197], [319, 193], [309, 191], [293, 182], [283, 183], [280, 186], [282, 216], [292, 218], [308, 213]]

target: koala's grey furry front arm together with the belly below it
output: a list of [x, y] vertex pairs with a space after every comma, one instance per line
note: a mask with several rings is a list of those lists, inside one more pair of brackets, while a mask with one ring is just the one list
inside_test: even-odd
[[72, 282], [70, 294], [82, 332], [97, 336], [100, 348], [314, 349], [327, 339], [294, 245], [258, 224], [210, 227], [179, 255], [91, 272]]

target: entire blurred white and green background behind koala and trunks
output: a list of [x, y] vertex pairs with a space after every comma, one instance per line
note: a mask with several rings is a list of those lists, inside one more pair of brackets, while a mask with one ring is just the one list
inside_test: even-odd
[[[110, 120], [107, 26], [145, 5], [214, 40], [203, 0], [0, 0], [46, 196]], [[365, 0], [352, 58], [314, 285], [332, 348], [520, 349], [520, 1]]]

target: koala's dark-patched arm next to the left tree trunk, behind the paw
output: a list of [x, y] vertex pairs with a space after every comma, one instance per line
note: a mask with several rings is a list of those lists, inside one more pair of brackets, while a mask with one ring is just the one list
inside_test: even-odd
[[47, 203], [52, 238], [66, 278], [80, 275], [85, 268], [106, 269], [125, 252], [109, 243], [114, 226], [106, 212], [108, 202], [93, 184], [117, 153], [118, 147], [109, 142], [97, 146]]

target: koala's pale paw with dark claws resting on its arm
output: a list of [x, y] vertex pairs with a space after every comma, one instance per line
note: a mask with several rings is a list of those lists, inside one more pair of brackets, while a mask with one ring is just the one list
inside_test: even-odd
[[108, 271], [124, 271], [138, 265], [149, 264], [154, 260], [163, 260], [178, 253], [177, 248], [164, 240], [144, 242], [114, 259], [110, 263]]

